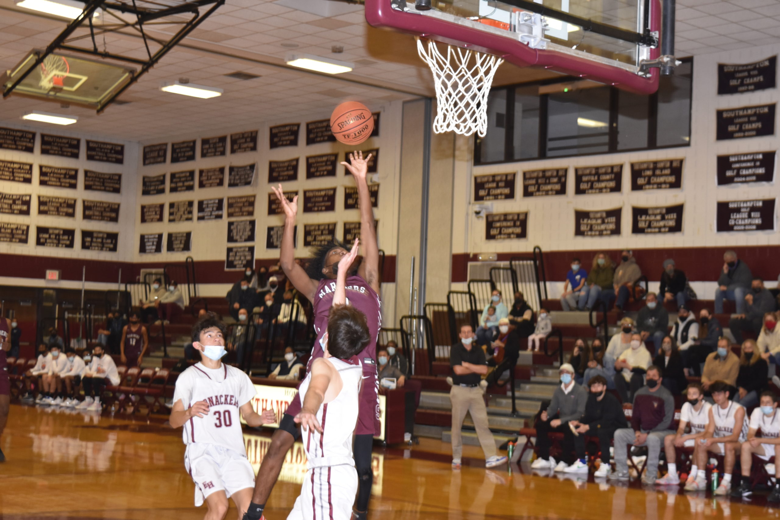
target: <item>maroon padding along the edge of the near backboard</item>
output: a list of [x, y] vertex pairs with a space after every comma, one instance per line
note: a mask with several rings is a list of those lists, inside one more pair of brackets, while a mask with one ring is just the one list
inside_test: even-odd
[[[651, 69], [650, 77], [639, 76], [625, 69], [594, 62], [576, 55], [530, 48], [527, 44], [522, 44], [512, 40], [512, 38], [502, 37], [473, 27], [446, 22], [432, 16], [392, 9], [390, 1], [366, 0], [366, 21], [374, 27], [397, 30], [441, 41], [445, 44], [468, 47], [475, 51], [496, 55], [519, 67], [552, 69], [558, 73], [594, 80], [636, 94], [653, 94], [658, 90], [658, 69]], [[651, 0], [650, 18], [651, 31], [660, 32], [661, 3], [658, 0]], [[660, 48], [651, 49], [650, 59], [658, 58], [660, 54]]]

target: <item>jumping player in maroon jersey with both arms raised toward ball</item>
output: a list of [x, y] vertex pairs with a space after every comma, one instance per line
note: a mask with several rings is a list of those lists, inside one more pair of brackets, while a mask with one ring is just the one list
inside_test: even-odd
[[[349, 163], [342, 162], [355, 178], [360, 203], [360, 242], [363, 245], [363, 261], [349, 267], [346, 279], [347, 302], [366, 315], [371, 343], [358, 355], [363, 364], [363, 390], [360, 394], [360, 410], [354, 442], [355, 469], [358, 475], [358, 492], [355, 504], [355, 518], [365, 519], [368, 501], [371, 497], [371, 483], [374, 473], [371, 470], [371, 446], [374, 435], [379, 433], [379, 399], [377, 387], [376, 350], [379, 328], [381, 327], [381, 302], [379, 299], [379, 247], [374, 229], [374, 210], [371, 207], [371, 193], [368, 191], [366, 174], [371, 154], [363, 159], [363, 152], [349, 154]], [[293, 202], [282, 193], [282, 186], [273, 188], [274, 193], [285, 211], [285, 230], [282, 235], [280, 263], [287, 278], [293, 282], [300, 294], [305, 295], [314, 305], [314, 330], [317, 340], [309, 359], [309, 364], [323, 356], [321, 341], [328, 330], [335, 279], [339, 260], [349, 253], [341, 242], [334, 241], [314, 251], [306, 270], [295, 262], [293, 233], [298, 213], [298, 197]], [[290, 447], [293, 447], [300, 432], [293, 417], [300, 412], [300, 395], [293, 399], [285, 411], [278, 430], [271, 437], [271, 446], [263, 458], [252, 496], [252, 504], [244, 515], [244, 520], [259, 520], [263, 515], [265, 503], [282, 471], [282, 462]]]

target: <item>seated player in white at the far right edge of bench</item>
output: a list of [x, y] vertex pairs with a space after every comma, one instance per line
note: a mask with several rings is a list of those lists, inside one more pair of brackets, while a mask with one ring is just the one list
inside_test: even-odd
[[[742, 444], [742, 483], [732, 491], [732, 497], [748, 497], [753, 493], [750, 486], [750, 468], [753, 455], [768, 461], [775, 457], [775, 487], [768, 497], [770, 502], [780, 502], [780, 412], [775, 394], [766, 391], [761, 394], [760, 407], [750, 414], [747, 440]], [[761, 430], [761, 437], [756, 434]]]

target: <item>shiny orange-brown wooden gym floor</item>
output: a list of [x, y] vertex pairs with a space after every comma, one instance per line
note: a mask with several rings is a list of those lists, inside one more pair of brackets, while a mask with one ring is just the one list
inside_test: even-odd
[[[256, 469], [268, 434], [246, 435]], [[127, 419], [58, 409], [11, 406], [0, 447], [0, 518], [203, 518], [193, 507], [193, 483], [184, 471], [181, 430], [161, 419]], [[297, 449], [296, 449], [297, 448]], [[271, 495], [268, 520], [286, 518], [300, 491], [305, 465], [300, 445]], [[753, 500], [709, 493], [644, 489], [530, 474], [527, 464], [485, 470], [479, 447], [466, 446], [463, 469], [450, 468], [449, 444], [423, 439], [410, 451], [374, 450], [371, 520], [477, 518], [780, 518], [765, 493]], [[232, 505], [232, 503], [231, 503]], [[236, 518], [231, 509], [227, 518]]]

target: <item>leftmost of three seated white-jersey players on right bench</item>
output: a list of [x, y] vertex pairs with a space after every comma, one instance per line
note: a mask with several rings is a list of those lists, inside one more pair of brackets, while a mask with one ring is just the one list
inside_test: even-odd
[[[664, 447], [666, 451], [666, 467], [668, 472], [663, 478], [655, 481], [659, 486], [678, 485], [680, 483], [677, 475], [677, 452], [678, 447], [694, 447], [696, 439], [704, 437], [707, 430], [707, 424], [710, 422], [710, 408], [712, 405], [704, 401], [704, 389], [700, 384], [689, 384], [686, 388], [688, 401], [683, 405], [680, 411], [679, 426], [677, 433], [671, 433], [664, 437]], [[690, 429], [686, 433], [686, 429]], [[696, 479], [698, 467], [695, 464], [691, 467], [693, 479]]]

